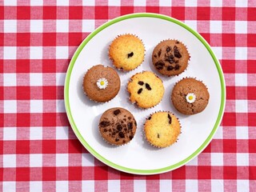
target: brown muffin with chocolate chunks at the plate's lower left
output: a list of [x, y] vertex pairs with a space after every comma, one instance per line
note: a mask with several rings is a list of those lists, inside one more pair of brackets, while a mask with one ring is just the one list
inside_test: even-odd
[[114, 107], [102, 114], [98, 127], [106, 142], [121, 146], [134, 138], [137, 123], [129, 110]]

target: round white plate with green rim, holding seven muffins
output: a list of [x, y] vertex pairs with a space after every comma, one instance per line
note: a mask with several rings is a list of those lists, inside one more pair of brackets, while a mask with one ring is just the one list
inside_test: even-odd
[[[91, 102], [83, 94], [82, 78], [86, 70], [99, 63], [112, 66], [108, 58], [108, 46], [118, 34], [136, 34], [146, 46], [145, 61], [128, 73], [118, 71], [121, 89], [118, 95], [106, 103]], [[187, 70], [175, 77], [163, 77], [154, 70], [151, 54], [154, 46], [167, 38], [183, 42], [190, 52]], [[129, 102], [126, 83], [135, 73], [151, 70], [158, 74], [166, 92], [162, 102], [154, 108], [141, 110]], [[202, 80], [209, 89], [210, 102], [200, 114], [182, 115], [170, 102], [175, 82], [183, 77]], [[78, 47], [66, 73], [66, 114], [74, 133], [95, 158], [117, 170], [132, 174], [158, 174], [177, 169], [196, 157], [209, 144], [222, 120], [226, 102], [226, 89], [222, 68], [210, 46], [200, 34], [183, 22], [160, 14], [128, 14], [115, 18], [94, 30]], [[98, 133], [98, 121], [102, 113], [120, 106], [130, 110], [138, 123], [134, 139], [125, 146], [110, 146]], [[143, 136], [143, 123], [149, 114], [157, 110], [174, 112], [182, 124], [178, 142], [165, 149], [155, 149]]]

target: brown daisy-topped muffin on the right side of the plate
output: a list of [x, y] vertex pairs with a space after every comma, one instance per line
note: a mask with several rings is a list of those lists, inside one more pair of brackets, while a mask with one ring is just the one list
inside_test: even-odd
[[171, 94], [174, 107], [182, 114], [198, 114], [208, 105], [207, 87], [195, 78], [183, 78], [175, 84]]

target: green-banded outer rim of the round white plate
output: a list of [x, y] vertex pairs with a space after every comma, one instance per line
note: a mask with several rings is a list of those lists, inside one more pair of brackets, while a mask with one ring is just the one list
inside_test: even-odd
[[[164, 19], [164, 20], [169, 21], [169, 22], [174, 22], [175, 24], [178, 24], [179, 26], [182, 26], [186, 30], [190, 31], [190, 33], [194, 34], [194, 36], [196, 38], [198, 38], [198, 40], [200, 42], [202, 42], [202, 44], [206, 47], [206, 49], [209, 51], [211, 57], [213, 58], [215, 66], [218, 70], [218, 75], [219, 75], [219, 79], [220, 79], [220, 82], [221, 82], [221, 90], [222, 90], [221, 105], [220, 105], [220, 108], [219, 108], [219, 111], [218, 111], [218, 118], [217, 118], [217, 120], [214, 124], [213, 130], [210, 132], [210, 134], [206, 138], [205, 142], [202, 143], [202, 145], [198, 148], [198, 150], [195, 150], [193, 154], [190, 154], [189, 157], [183, 159], [182, 161], [177, 162], [177, 163], [175, 163], [174, 165], [171, 165], [171, 166], [166, 166], [166, 167], [163, 167], [163, 168], [160, 168], [160, 169], [154, 169], [154, 170], [137, 170], [137, 169], [131, 169], [131, 168], [128, 168], [128, 167], [125, 167], [125, 166], [120, 166], [118, 164], [110, 162], [108, 159], [103, 158], [100, 154], [98, 154], [98, 152], [95, 151], [86, 142], [86, 140], [82, 137], [82, 135], [80, 134], [80, 132], [79, 132], [79, 130], [78, 130], [78, 128], [77, 128], [77, 126], [74, 122], [74, 118], [72, 117], [72, 113], [71, 113], [71, 110], [70, 110], [70, 101], [69, 101], [70, 76], [71, 76], [71, 72], [72, 72], [73, 67], [74, 67], [74, 63], [76, 62], [76, 59], [78, 58], [78, 55], [80, 54], [82, 49], [86, 46], [86, 44], [88, 42], [90, 42], [90, 39], [94, 38], [94, 36], [96, 34], [98, 34], [100, 31], [106, 29], [106, 27], [111, 26], [116, 22], [121, 22], [123, 20], [130, 19], [130, 18], [142, 18], [142, 17], [159, 18], [159, 19]], [[213, 50], [211, 50], [210, 45], [206, 42], [206, 40], [204, 38], [202, 38], [202, 36], [200, 34], [198, 34], [198, 32], [192, 30], [189, 26], [186, 26], [185, 23], [183, 23], [183, 22], [181, 22], [181, 21], [179, 21], [175, 18], [171, 18], [169, 16], [163, 15], [163, 14], [153, 14], [153, 13], [126, 14], [126, 15], [123, 15], [121, 17], [114, 18], [113, 20], [110, 20], [109, 22], [106, 22], [102, 26], [99, 26], [96, 30], [94, 30], [91, 34], [89, 34], [82, 41], [80, 46], [78, 46], [78, 49], [75, 51], [73, 57], [70, 60], [70, 65], [69, 65], [69, 67], [67, 69], [67, 72], [66, 72], [66, 79], [65, 79], [65, 86], [64, 86], [64, 100], [65, 100], [66, 114], [67, 114], [67, 117], [69, 119], [70, 126], [74, 130], [74, 134], [76, 134], [77, 138], [82, 143], [82, 145], [86, 148], [86, 150], [88, 150], [90, 152], [90, 154], [93, 154], [95, 158], [98, 158], [98, 160], [105, 163], [107, 166], [111, 166], [116, 170], [121, 170], [123, 172], [130, 173], [130, 174], [160, 174], [160, 173], [165, 173], [165, 172], [170, 171], [170, 170], [175, 170], [178, 167], [185, 165], [186, 162], [189, 162], [193, 158], [197, 157], [198, 154], [200, 154], [202, 152], [202, 150], [204, 150], [206, 148], [206, 146], [208, 146], [211, 139], [214, 137], [214, 134], [215, 134], [216, 130], [218, 129], [218, 126], [220, 125], [220, 123], [222, 121], [222, 116], [224, 114], [224, 108], [225, 108], [225, 103], [226, 103], [226, 85], [225, 85], [224, 74], [222, 72], [222, 67], [221, 67], [220, 63], [218, 62], [218, 59], [214, 55]]]

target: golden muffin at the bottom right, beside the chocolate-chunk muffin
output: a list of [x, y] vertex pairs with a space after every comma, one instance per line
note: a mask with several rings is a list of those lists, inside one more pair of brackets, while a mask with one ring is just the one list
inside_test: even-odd
[[174, 114], [160, 111], [146, 119], [144, 132], [146, 140], [152, 146], [164, 148], [177, 141], [181, 133], [181, 125]]

